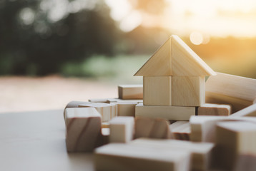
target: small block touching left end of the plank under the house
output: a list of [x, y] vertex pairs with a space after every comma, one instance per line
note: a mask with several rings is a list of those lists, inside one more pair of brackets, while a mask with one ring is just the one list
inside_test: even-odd
[[137, 102], [117, 102], [110, 103], [117, 105], [117, 116], [133, 116], [135, 117], [135, 106]]

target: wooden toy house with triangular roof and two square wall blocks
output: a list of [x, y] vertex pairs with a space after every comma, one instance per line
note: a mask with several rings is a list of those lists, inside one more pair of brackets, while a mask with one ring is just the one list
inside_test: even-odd
[[215, 76], [178, 36], [171, 36], [134, 76], [143, 76], [144, 105], [201, 106], [205, 76]]

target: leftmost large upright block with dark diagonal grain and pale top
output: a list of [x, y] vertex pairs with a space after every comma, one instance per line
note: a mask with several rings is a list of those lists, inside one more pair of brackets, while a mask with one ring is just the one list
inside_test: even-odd
[[68, 152], [92, 152], [101, 145], [101, 118], [95, 108], [67, 108], [66, 142]]

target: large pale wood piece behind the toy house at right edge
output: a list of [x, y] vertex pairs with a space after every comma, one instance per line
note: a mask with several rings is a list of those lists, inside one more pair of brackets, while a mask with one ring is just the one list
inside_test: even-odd
[[256, 79], [217, 73], [206, 82], [206, 103], [226, 103], [233, 112], [252, 105], [256, 97]]

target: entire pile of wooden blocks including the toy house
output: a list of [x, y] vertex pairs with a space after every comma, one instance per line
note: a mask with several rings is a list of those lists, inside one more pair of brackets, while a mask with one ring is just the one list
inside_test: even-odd
[[215, 75], [171, 36], [135, 73], [143, 86], [67, 105], [67, 150], [104, 145], [94, 152], [102, 171], [255, 170], [256, 80]]

